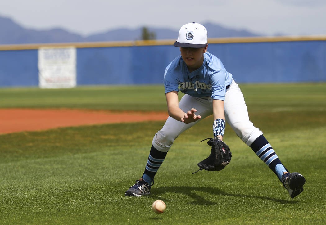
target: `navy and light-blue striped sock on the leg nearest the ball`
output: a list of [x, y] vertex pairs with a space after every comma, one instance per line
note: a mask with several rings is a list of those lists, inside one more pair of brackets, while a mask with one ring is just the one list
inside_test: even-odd
[[167, 152], [158, 151], [152, 145], [151, 151], [149, 153], [147, 164], [145, 167], [144, 174], [142, 178], [149, 184], [154, 181], [154, 176], [157, 173], [158, 169], [160, 168], [161, 164], [163, 163]]

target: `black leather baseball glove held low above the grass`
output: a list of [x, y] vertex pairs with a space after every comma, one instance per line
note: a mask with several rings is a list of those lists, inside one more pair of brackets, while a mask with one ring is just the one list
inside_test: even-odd
[[211, 154], [208, 158], [205, 158], [197, 164], [200, 168], [198, 171], [203, 169], [207, 171], [223, 170], [231, 161], [232, 155], [229, 146], [218, 138], [206, 138], [202, 141], [207, 139], [209, 139], [207, 144], [212, 147]]

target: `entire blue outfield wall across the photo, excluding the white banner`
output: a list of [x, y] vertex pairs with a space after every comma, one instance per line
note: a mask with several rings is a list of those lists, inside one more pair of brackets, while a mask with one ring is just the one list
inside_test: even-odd
[[[209, 43], [208, 51], [237, 83], [326, 81], [326, 40]], [[77, 85], [160, 84], [179, 54], [172, 45], [80, 45]], [[37, 48], [0, 51], [0, 86], [38, 86]]]

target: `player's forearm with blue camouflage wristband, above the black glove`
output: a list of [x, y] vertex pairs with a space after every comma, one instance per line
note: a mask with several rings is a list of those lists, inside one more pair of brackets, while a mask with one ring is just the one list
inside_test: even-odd
[[219, 137], [223, 140], [224, 129], [225, 129], [225, 115], [224, 115], [224, 101], [213, 99], [213, 133], [214, 137]]

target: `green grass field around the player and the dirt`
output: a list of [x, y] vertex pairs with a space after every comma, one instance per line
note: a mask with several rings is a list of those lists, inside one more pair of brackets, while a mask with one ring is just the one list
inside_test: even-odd
[[[124, 192], [164, 121], [58, 128], [0, 135], [0, 224], [326, 224], [326, 83], [240, 87], [251, 121], [305, 176], [296, 198], [228, 125], [230, 165], [191, 174], [210, 152], [200, 141], [212, 117], [178, 137], [141, 198]], [[0, 97], [0, 108], [166, 110], [162, 86], [2, 88]], [[151, 210], [157, 199], [163, 214]]]

